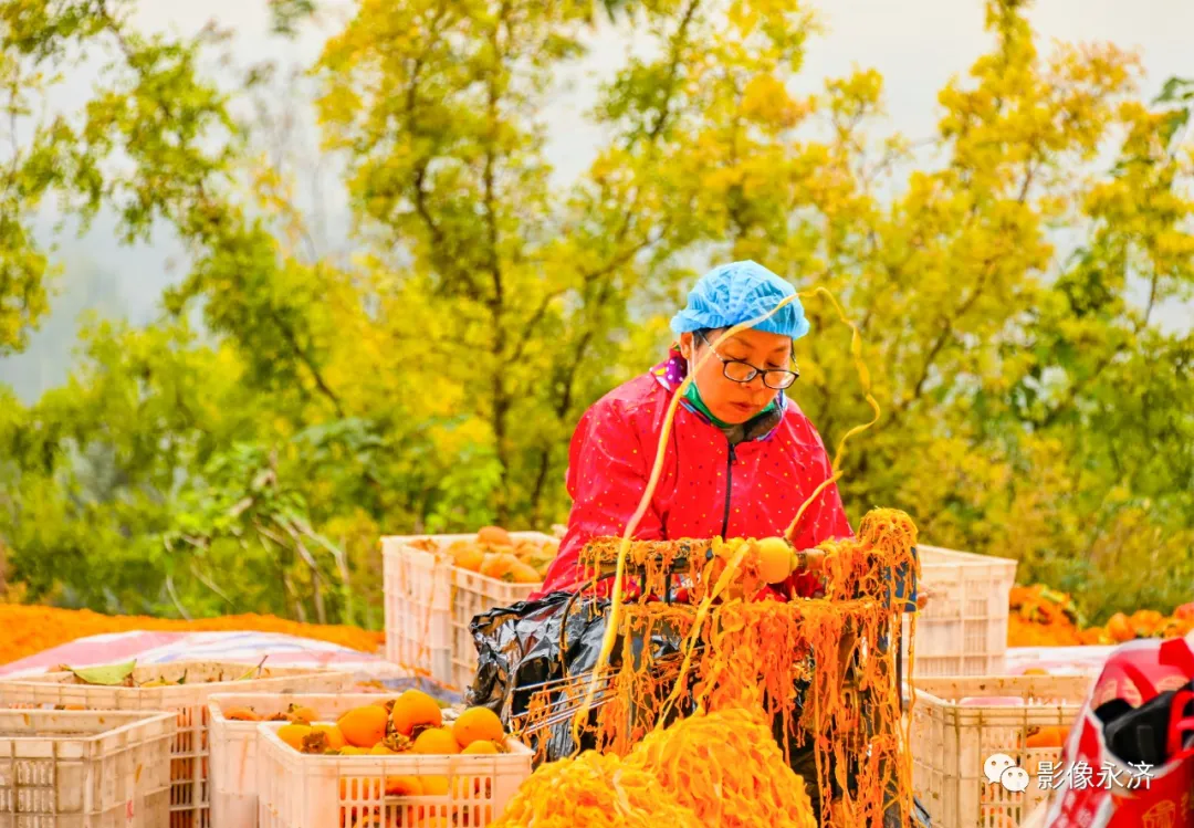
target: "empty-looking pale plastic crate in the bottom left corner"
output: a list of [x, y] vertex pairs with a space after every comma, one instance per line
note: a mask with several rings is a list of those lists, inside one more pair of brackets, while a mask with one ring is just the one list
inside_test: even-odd
[[0, 710], [0, 824], [158, 828], [172, 713]]

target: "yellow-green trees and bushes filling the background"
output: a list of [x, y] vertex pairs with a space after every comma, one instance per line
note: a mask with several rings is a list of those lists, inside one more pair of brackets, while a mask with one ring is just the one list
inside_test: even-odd
[[[314, 11], [271, 6], [281, 32]], [[345, 265], [232, 117], [250, 89], [201, 72], [217, 32], [0, 0], [6, 106], [31, 128], [0, 172], [0, 351], [45, 313], [49, 194], [130, 242], [165, 222], [192, 261], [155, 325], [96, 322], [66, 387], [0, 400], [10, 580], [376, 623], [380, 535], [564, 519], [580, 413], [661, 356], [694, 265], [750, 257], [863, 330], [884, 416], [847, 456], [854, 517], [905, 508], [1095, 620], [1188, 600], [1194, 334], [1155, 315], [1194, 292], [1194, 92], [1145, 103], [1112, 45], [1041, 54], [1023, 6], [987, 4], [992, 51], [942, 89], [921, 166], [876, 126], [878, 73], [792, 93], [817, 29], [792, 2], [362, 0], [310, 68], [357, 221]], [[540, 113], [598, 14], [657, 48], [603, 86], [607, 142], [561, 185]], [[38, 121], [81, 50], [106, 61], [92, 99]], [[793, 396], [832, 445], [869, 410], [848, 332], [806, 308]]]

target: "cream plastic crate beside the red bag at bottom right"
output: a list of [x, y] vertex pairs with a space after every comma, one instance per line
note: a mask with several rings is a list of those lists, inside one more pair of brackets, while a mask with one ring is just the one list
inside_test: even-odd
[[[1041, 761], [1061, 761], [1060, 747], [1027, 747], [1036, 728], [1073, 724], [1093, 676], [955, 676], [916, 679], [912, 705], [912, 786], [934, 826], [1020, 824], [1048, 798]], [[986, 780], [983, 766], [1007, 754], [1028, 771], [1029, 786], [1011, 792]]]

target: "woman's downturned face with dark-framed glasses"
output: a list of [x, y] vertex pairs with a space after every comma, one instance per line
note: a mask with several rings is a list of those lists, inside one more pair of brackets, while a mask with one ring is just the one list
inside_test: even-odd
[[[704, 340], [713, 344], [715, 353], [709, 354], [700, 366], [695, 382], [701, 398], [713, 415], [724, 422], [738, 425], [767, 408], [778, 391], [764, 385], [762, 375], [749, 383], [728, 379], [721, 359], [738, 359], [759, 370], [789, 370], [792, 338], [753, 328], [721, 339], [724, 334], [725, 329], [719, 329], [704, 335]], [[709, 351], [704, 340], [696, 334], [681, 334], [681, 353], [691, 365], [696, 365]]]

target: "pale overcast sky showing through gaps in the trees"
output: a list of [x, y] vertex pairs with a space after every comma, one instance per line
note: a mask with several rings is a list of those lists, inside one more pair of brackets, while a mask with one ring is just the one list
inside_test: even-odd
[[[272, 58], [306, 64], [318, 55], [327, 33], [343, 21], [349, 6], [340, 2], [325, 12], [322, 24], [308, 26], [294, 43], [269, 36], [266, 8], [266, 0], [141, 0], [136, 23], [146, 29], [193, 32], [214, 18], [235, 31], [235, 51], [242, 62]], [[933, 129], [938, 117], [938, 89], [990, 48], [983, 30], [981, 0], [825, 0], [817, 8], [825, 31], [808, 44], [805, 91], [819, 88], [825, 78], [845, 75], [854, 67], [875, 68], [885, 79], [887, 125], [912, 138]], [[1194, 76], [1194, 0], [1038, 0], [1029, 17], [1047, 41], [1112, 41], [1138, 49], [1147, 73], [1149, 98], [1171, 75]], [[544, 113], [553, 124], [549, 157], [561, 178], [584, 169], [591, 159], [598, 136], [581, 121], [593, 99], [591, 79], [608, 78], [621, 64], [627, 42], [624, 32], [603, 29], [593, 38], [587, 58], [571, 73], [577, 79], [574, 89], [558, 95]], [[90, 86], [87, 78], [69, 80], [80, 94]], [[343, 200], [330, 206], [337, 211]], [[168, 274], [165, 267], [177, 251], [166, 240], [148, 249], [118, 248], [110, 224], [103, 221], [84, 240], [69, 240], [64, 246], [67, 276], [72, 262], [99, 262], [112, 274], [111, 283], [105, 284], [115, 285], [111, 290], [119, 293], [103, 303], [104, 311], [123, 308], [135, 322], [150, 317], [161, 285], [178, 277], [177, 270]], [[69, 305], [69, 313], [76, 313], [93, 304], [78, 296], [70, 302], [70, 288], [68, 280], [63, 285], [67, 296], [56, 307]], [[1168, 309], [1167, 314], [1168, 323], [1181, 323], [1188, 321], [1189, 310]], [[17, 384], [23, 396], [61, 382], [62, 360], [47, 354], [61, 354], [69, 344], [62, 341], [62, 328], [54, 328], [35, 338], [32, 354], [0, 359], [0, 381]], [[50, 338], [55, 341], [48, 341]]]

